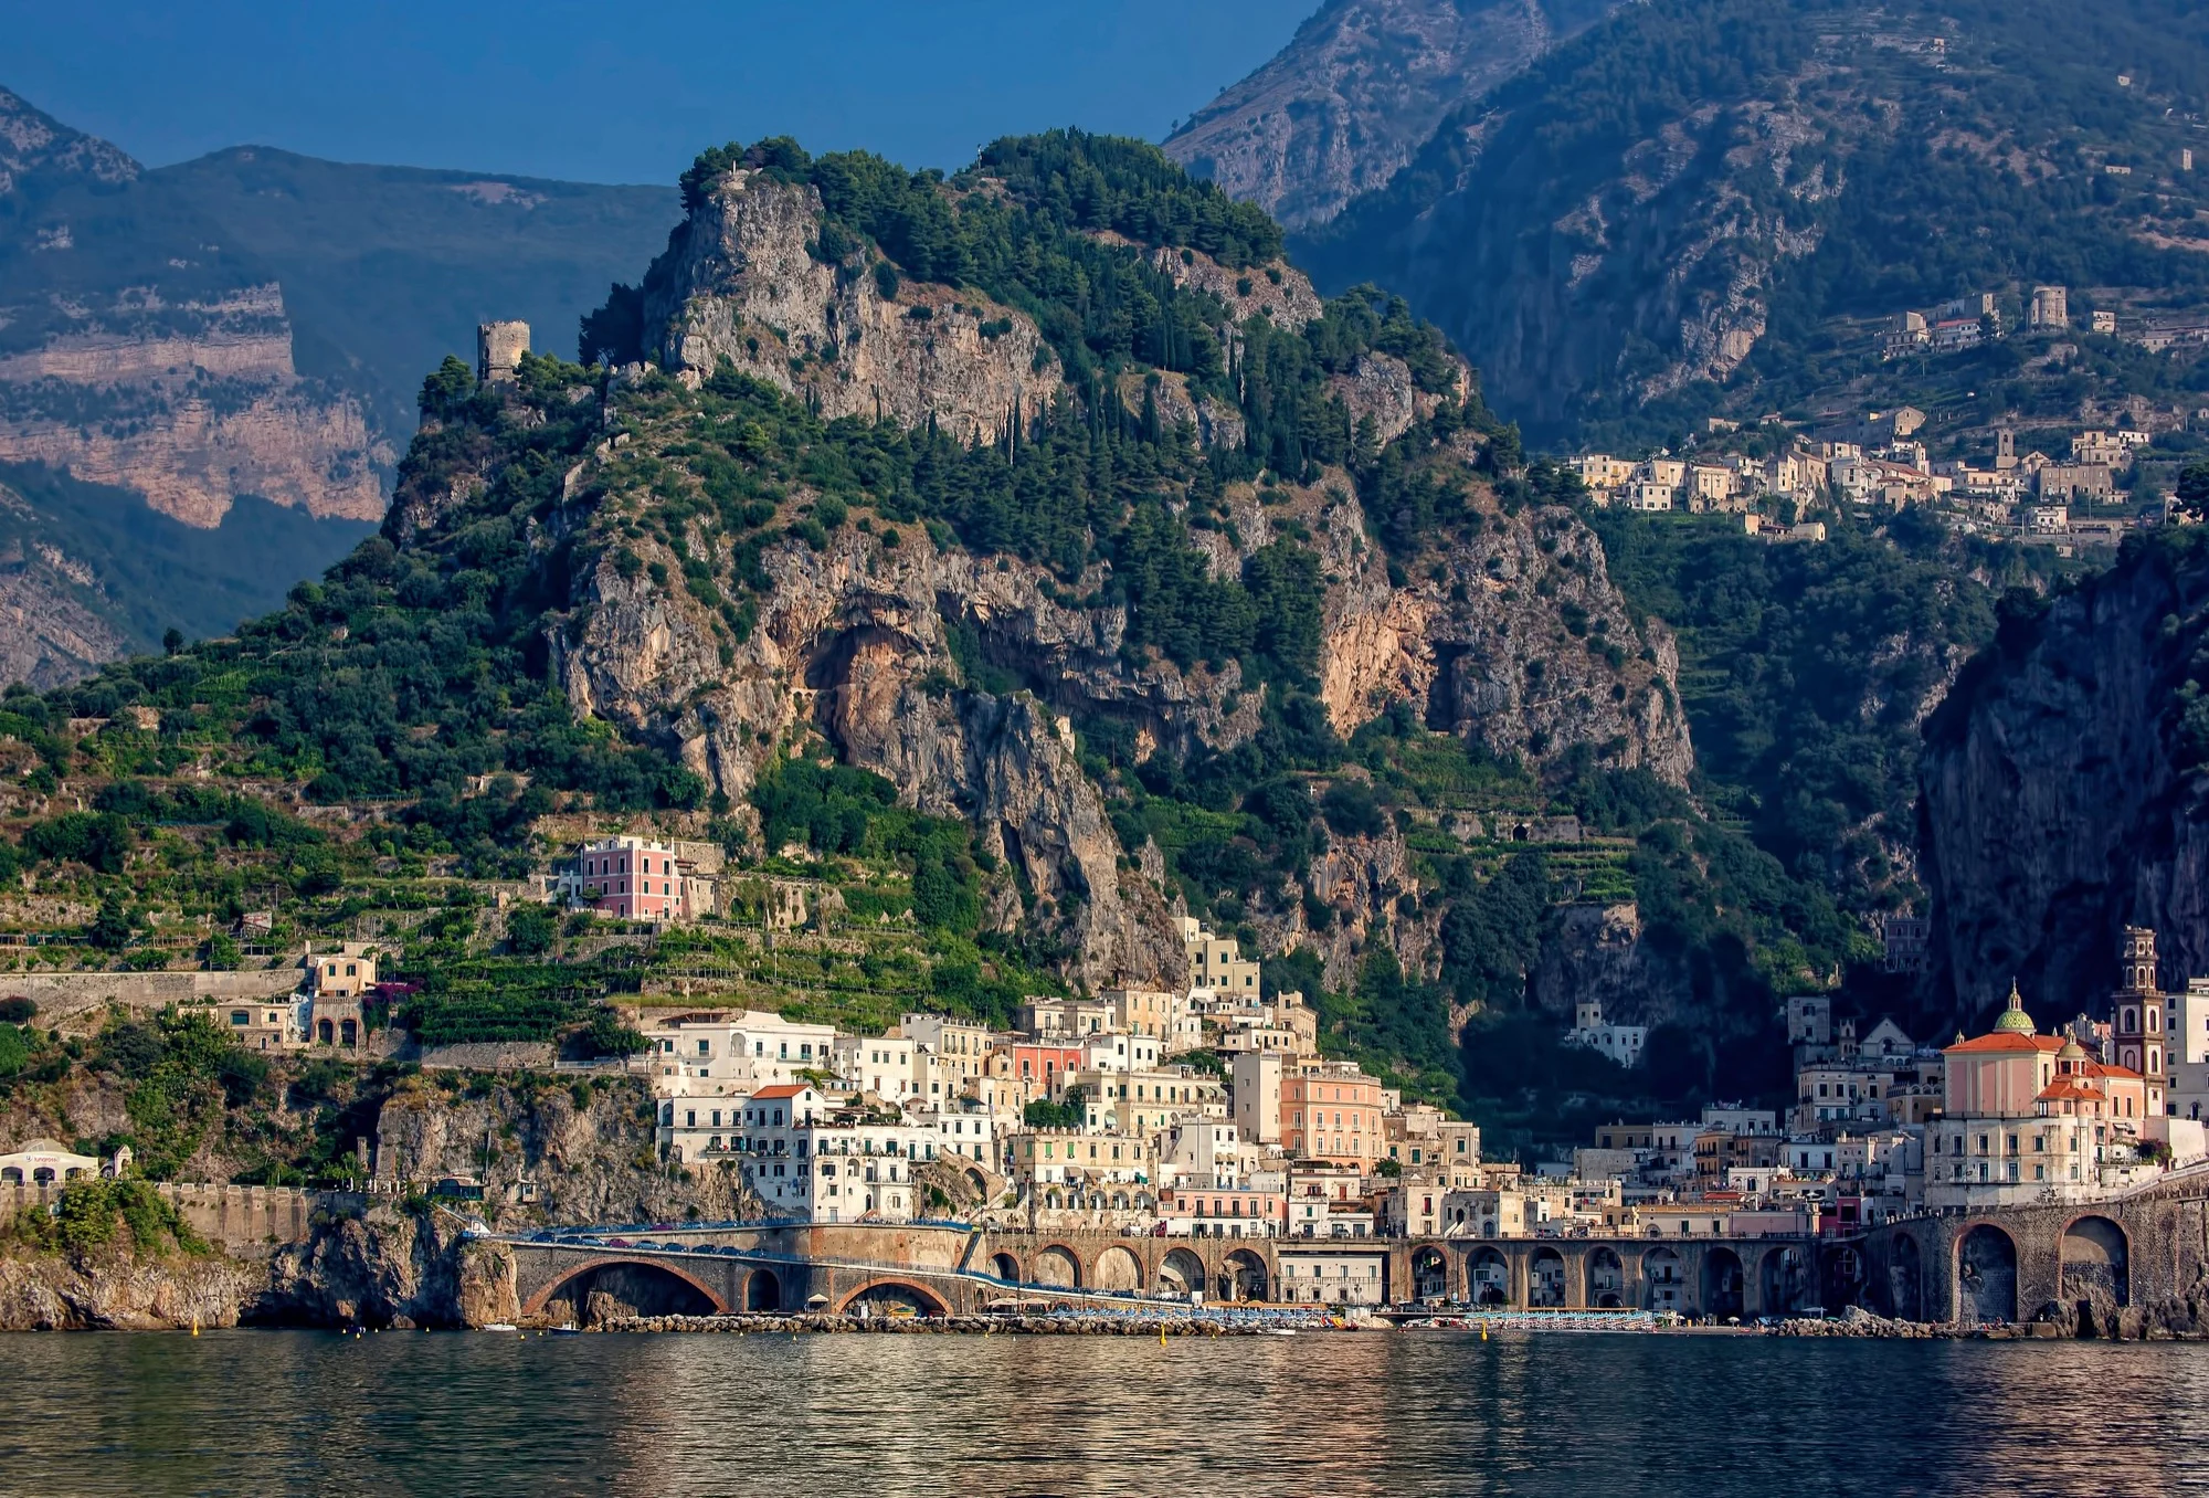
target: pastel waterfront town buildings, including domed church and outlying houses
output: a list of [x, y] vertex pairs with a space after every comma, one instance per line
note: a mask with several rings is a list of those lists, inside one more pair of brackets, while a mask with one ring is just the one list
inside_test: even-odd
[[[603, 840], [577, 855], [585, 884], [557, 888], [678, 899], [663, 890], [680, 890], [683, 862]], [[1906, 966], [1922, 921], [1891, 926]], [[1383, 1301], [1387, 1239], [1845, 1237], [2116, 1200], [2209, 1160], [2209, 979], [2163, 992], [2143, 928], [2125, 930], [2121, 988], [2092, 1005], [2105, 1021], [2043, 1025], [2012, 988], [1986, 1034], [1913, 1038], [1800, 994], [1785, 1014], [1794, 1105], [1613, 1120], [1535, 1160], [1484, 1158], [1478, 1125], [1323, 1054], [1312, 1008], [1268, 992], [1230, 937], [1182, 917], [1182, 992], [1036, 996], [1005, 1030], [912, 1012], [881, 1034], [647, 1008], [645, 1049], [599, 1065], [649, 1074], [660, 1162], [731, 1175], [764, 1222], [1277, 1239], [1275, 1297], [1339, 1306]], [[228, 1023], [247, 1047], [358, 1052], [380, 988], [376, 948], [345, 943], [303, 961], [296, 994], [232, 1005]], [[1632, 1067], [1648, 1030], [1582, 1001], [1564, 1038]], [[0, 1173], [29, 1180], [27, 1160]], [[1529, 1290], [1533, 1306], [1562, 1293]]]

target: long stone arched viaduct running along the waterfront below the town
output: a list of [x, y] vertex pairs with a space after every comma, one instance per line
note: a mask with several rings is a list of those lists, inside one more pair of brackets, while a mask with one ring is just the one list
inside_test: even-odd
[[[992, 1304], [1206, 1304], [1310, 1297], [1297, 1264], [1365, 1259], [1381, 1299], [1509, 1308], [1787, 1315], [1864, 1306], [1913, 1321], [2054, 1319], [2096, 1330], [2138, 1308], [2205, 1301], [2202, 1182], [2094, 1206], [2012, 1206], [1909, 1217], [1853, 1237], [1261, 1239], [1001, 1233], [952, 1224], [572, 1231], [499, 1239], [524, 1317], [572, 1315], [601, 1275], [652, 1277], [689, 1310], [923, 1315]], [[1288, 1275], [1283, 1275], [1288, 1268]], [[1310, 1275], [1310, 1270], [1303, 1270]], [[1330, 1270], [1334, 1273], [1334, 1270]], [[680, 1288], [678, 1288], [680, 1286]], [[614, 1288], [621, 1288], [619, 1284]], [[634, 1284], [630, 1288], [636, 1288]], [[619, 1299], [619, 1297], [616, 1297]], [[634, 1304], [634, 1301], [632, 1301]], [[2123, 1321], [2121, 1312], [2134, 1312]], [[2191, 1317], [2191, 1310], [2187, 1310]]]

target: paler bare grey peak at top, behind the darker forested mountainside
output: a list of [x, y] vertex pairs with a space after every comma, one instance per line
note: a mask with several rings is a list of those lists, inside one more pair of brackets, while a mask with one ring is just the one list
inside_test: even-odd
[[1330, 0], [1166, 152], [1290, 228], [1387, 183], [1442, 115], [1524, 68], [1606, 4]]

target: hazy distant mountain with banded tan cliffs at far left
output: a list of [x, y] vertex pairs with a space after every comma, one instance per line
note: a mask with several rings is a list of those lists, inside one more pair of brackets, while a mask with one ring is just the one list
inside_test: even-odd
[[[0, 464], [133, 490], [261, 568], [245, 608], [208, 621], [199, 592], [228, 601], [234, 572], [194, 572], [190, 544], [115, 570], [66, 482], [49, 484], [64, 499], [42, 515], [49, 544], [95, 581], [24, 614], [91, 608], [104, 627], [7, 641], [11, 661], [44, 663], [29, 667], [40, 685], [82, 669], [75, 652], [228, 630], [327, 566], [382, 519], [418, 371], [471, 347], [486, 316], [563, 338], [672, 217], [660, 190], [267, 150], [148, 172], [4, 91], [0, 141]], [[250, 517], [320, 524], [245, 535], [241, 497], [265, 502]]]

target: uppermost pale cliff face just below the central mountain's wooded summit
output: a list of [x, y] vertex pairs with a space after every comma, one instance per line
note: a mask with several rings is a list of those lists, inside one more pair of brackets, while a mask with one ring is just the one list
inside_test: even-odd
[[645, 276], [645, 329], [663, 367], [729, 360], [824, 415], [930, 415], [959, 437], [994, 437], [1058, 393], [1058, 358], [1025, 316], [979, 292], [886, 292], [853, 252], [820, 250], [822, 199], [738, 168], [716, 179]]

